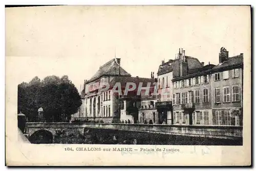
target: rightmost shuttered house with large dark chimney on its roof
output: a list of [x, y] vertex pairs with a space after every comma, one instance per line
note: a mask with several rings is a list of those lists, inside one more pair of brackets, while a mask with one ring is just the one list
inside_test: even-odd
[[212, 68], [212, 124], [243, 125], [243, 54], [228, 57], [221, 48], [219, 64]]

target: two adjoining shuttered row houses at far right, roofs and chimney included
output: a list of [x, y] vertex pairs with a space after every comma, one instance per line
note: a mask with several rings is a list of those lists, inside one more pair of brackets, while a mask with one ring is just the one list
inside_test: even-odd
[[206, 65], [173, 80], [174, 124], [242, 125], [243, 54]]

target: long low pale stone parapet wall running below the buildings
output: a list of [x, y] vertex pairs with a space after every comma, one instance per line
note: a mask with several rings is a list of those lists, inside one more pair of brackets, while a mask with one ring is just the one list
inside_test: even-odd
[[242, 138], [243, 127], [241, 126], [197, 126], [197, 125], [150, 125], [150, 124], [106, 124], [106, 123], [27, 123], [29, 136], [38, 130], [50, 131], [53, 135], [55, 130], [67, 129], [83, 132], [84, 128], [111, 129], [122, 131], [149, 132], [182, 136], [209, 137], [236, 139]]

